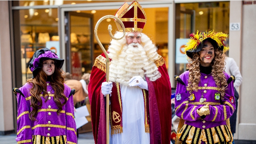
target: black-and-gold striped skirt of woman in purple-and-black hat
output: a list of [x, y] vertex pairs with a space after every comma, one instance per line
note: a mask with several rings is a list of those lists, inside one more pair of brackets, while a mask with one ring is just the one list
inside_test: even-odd
[[32, 142], [33, 144], [66, 144], [67, 137], [65, 135], [55, 137], [33, 135]]

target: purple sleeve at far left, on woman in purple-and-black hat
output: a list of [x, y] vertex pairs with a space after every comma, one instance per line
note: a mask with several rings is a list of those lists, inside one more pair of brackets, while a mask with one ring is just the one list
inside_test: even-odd
[[21, 87], [20, 93], [17, 93], [17, 138], [18, 144], [32, 144], [32, 129], [31, 120], [29, 119], [30, 103], [27, 94], [27, 89], [24, 88], [26, 85]]

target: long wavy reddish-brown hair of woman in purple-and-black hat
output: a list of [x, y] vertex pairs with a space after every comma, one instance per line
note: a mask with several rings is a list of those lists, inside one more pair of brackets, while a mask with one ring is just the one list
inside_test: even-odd
[[[60, 68], [57, 68], [55, 64], [55, 70], [51, 76], [50, 83], [52, 88], [55, 91], [53, 100], [55, 101], [58, 107], [57, 114], [59, 114], [60, 111], [62, 110], [62, 106], [64, 106], [67, 103], [67, 98], [63, 93], [64, 78], [65, 78], [65, 74], [62, 72]], [[47, 80], [47, 75], [42, 69], [34, 78], [27, 80], [27, 83], [33, 86], [30, 90], [30, 95], [31, 95], [30, 106], [33, 108], [33, 110], [29, 113], [29, 118], [31, 120], [36, 120], [35, 117], [37, 116], [37, 111], [42, 107], [42, 99], [40, 95], [41, 94], [43, 95], [45, 102], [48, 100], [49, 95], [46, 91], [47, 90], [46, 80]]]

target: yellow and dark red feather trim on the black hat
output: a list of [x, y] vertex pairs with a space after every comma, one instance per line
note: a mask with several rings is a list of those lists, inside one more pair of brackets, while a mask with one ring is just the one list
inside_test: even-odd
[[[217, 45], [221, 47], [223, 45], [223, 51], [229, 50], [229, 47], [224, 46], [224, 41], [226, 41], [226, 38], [228, 37], [228, 34], [217, 32], [215, 33], [213, 30], [209, 32], [203, 32], [198, 34], [198, 30], [195, 33], [192, 33], [189, 35], [190, 39], [188, 40], [187, 45], [185, 45], [184, 51], [190, 51], [196, 50], [200, 43], [202, 43], [205, 39], [211, 38], [216, 41]], [[200, 51], [200, 50], [199, 50]]]

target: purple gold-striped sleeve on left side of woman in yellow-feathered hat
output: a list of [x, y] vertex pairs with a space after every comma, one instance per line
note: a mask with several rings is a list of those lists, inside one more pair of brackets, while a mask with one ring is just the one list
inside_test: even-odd
[[[188, 71], [180, 75], [181, 80], [187, 84]], [[189, 91], [186, 90], [186, 86], [177, 83], [176, 93], [175, 93], [175, 113], [178, 117], [187, 121], [196, 121], [200, 116], [197, 114], [196, 110], [200, 109], [202, 106], [196, 106], [189, 104], [188, 94]]]

